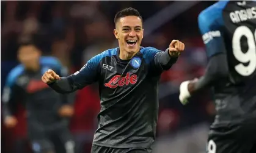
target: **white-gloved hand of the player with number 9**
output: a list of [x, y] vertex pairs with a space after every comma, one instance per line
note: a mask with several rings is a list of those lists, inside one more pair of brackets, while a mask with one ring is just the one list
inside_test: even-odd
[[180, 84], [180, 102], [183, 105], [186, 105], [188, 103], [188, 98], [191, 97], [191, 94], [194, 93], [195, 90], [195, 84], [198, 81], [198, 79], [194, 80], [186, 80], [184, 82], [181, 82]]

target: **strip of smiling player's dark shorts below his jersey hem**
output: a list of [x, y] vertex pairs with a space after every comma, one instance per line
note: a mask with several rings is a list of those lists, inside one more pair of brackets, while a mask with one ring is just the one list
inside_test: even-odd
[[92, 144], [91, 153], [152, 153], [152, 149], [146, 148], [109, 148]]

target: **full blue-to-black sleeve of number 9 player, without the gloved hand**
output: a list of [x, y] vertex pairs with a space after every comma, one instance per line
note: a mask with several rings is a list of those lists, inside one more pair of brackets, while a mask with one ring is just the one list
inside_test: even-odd
[[208, 63], [205, 74], [194, 85], [194, 90], [202, 90], [216, 85], [229, 76], [225, 44], [223, 39], [222, 9], [227, 1], [219, 1], [203, 10], [199, 15], [199, 29], [207, 50]]

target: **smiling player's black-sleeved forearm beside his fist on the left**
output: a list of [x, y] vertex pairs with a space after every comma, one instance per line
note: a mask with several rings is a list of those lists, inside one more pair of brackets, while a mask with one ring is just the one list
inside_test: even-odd
[[75, 85], [73, 85], [68, 77], [60, 77], [59, 80], [56, 80], [55, 82], [48, 85], [57, 93], [72, 93], [76, 90]]

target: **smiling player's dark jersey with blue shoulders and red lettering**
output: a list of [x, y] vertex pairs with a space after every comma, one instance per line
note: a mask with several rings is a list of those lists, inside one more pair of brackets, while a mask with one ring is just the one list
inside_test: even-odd
[[73, 90], [99, 83], [101, 110], [93, 144], [152, 147], [158, 119], [159, 78], [177, 57], [169, 59], [168, 51], [152, 47], [141, 48], [130, 60], [120, 59], [119, 48], [108, 49], [68, 77]]

